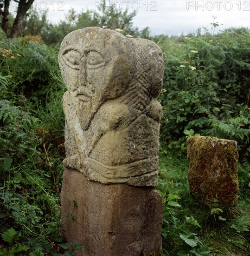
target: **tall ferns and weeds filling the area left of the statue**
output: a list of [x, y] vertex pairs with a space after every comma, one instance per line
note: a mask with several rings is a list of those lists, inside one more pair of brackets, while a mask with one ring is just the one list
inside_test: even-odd
[[0, 255], [74, 255], [58, 245], [64, 84], [57, 53], [36, 42], [1, 40]]

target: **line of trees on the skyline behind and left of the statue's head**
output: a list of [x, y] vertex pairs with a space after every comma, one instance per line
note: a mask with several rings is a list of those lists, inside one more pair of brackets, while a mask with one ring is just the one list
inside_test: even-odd
[[[0, 3], [1, 1], [2, 8], [6, 7], [3, 5], [3, 2], [7, 0], [0, 0]], [[11, 0], [8, 1], [10, 2]], [[39, 35], [42, 37], [43, 41], [49, 45], [59, 43], [61, 40], [63, 40], [66, 34], [84, 27], [96, 26], [113, 30], [121, 29], [122, 34], [129, 34], [134, 37], [138, 37], [141, 34], [138, 32], [138, 28], [133, 26], [132, 20], [136, 15], [135, 11], [129, 12], [128, 9], [119, 10], [111, 2], [109, 2], [109, 5], [106, 4], [105, 0], [102, 1], [101, 5], [96, 11], [82, 10], [78, 13], [74, 9], [71, 9], [65, 15], [64, 20], [60, 20], [58, 24], [52, 24], [49, 22], [47, 20], [46, 12], [41, 13], [33, 9], [29, 9], [29, 11], [25, 12], [28, 10], [28, 3], [31, 6], [34, 0], [14, 1], [19, 2], [17, 16], [15, 22], [13, 22], [13, 28], [10, 28], [10, 18], [13, 19], [13, 16], [9, 15], [8, 29], [6, 30], [7, 33], [10, 34], [9, 37], [11, 38], [17, 37], [20, 34], [21, 25], [21, 35]], [[26, 9], [24, 10], [24, 8], [21, 7], [26, 7]], [[20, 13], [23, 13], [23, 16]], [[1, 15], [3, 15], [3, 11], [0, 13], [0, 16]], [[19, 26], [17, 26], [18, 22]], [[145, 28], [143, 32], [144, 33], [142, 33], [142, 35], [147, 37], [149, 36], [150, 30]]]

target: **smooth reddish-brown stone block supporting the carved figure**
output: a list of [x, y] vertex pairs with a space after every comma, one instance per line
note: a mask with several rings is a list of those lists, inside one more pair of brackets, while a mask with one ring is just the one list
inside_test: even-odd
[[161, 255], [162, 199], [153, 187], [105, 185], [65, 169], [62, 235], [86, 244], [76, 255]]

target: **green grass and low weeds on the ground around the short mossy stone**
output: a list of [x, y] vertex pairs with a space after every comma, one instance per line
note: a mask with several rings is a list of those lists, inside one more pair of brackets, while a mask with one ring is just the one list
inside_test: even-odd
[[[170, 207], [167, 200], [164, 204], [164, 255], [178, 255], [181, 251], [183, 254], [179, 255], [250, 255], [250, 189], [241, 182], [241, 175], [244, 174], [242, 165], [239, 165], [238, 216], [231, 220], [220, 220], [218, 215], [211, 215], [211, 209], [204, 208], [201, 201], [192, 198], [187, 180], [188, 168], [189, 163], [185, 156], [176, 157], [171, 153], [160, 156], [158, 189], [164, 191], [166, 198], [168, 194], [181, 198], [178, 199], [181, 207]], [[200, 227], [187, 223], [185, 216], [193, 217]], [[180, 234], [185, 231], [189, 234], [195, 233], [201, 244], [195, 247], [187, 246], [183, 239], [180, 239]], [[205, 249], [203, 253], [203, 246], [209, 247], [210, 253], [205, 252]], [[193, 248], [198, 248], [199, 252], [192, 254]]]

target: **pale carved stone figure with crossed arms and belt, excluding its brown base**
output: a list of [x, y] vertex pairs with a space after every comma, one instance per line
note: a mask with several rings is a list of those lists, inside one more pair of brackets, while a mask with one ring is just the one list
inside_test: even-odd
[[59, 66], [64, 94], [64, 165], [102, 183], [155, 186], [160, 48], [100, 27], [68, 34]]

